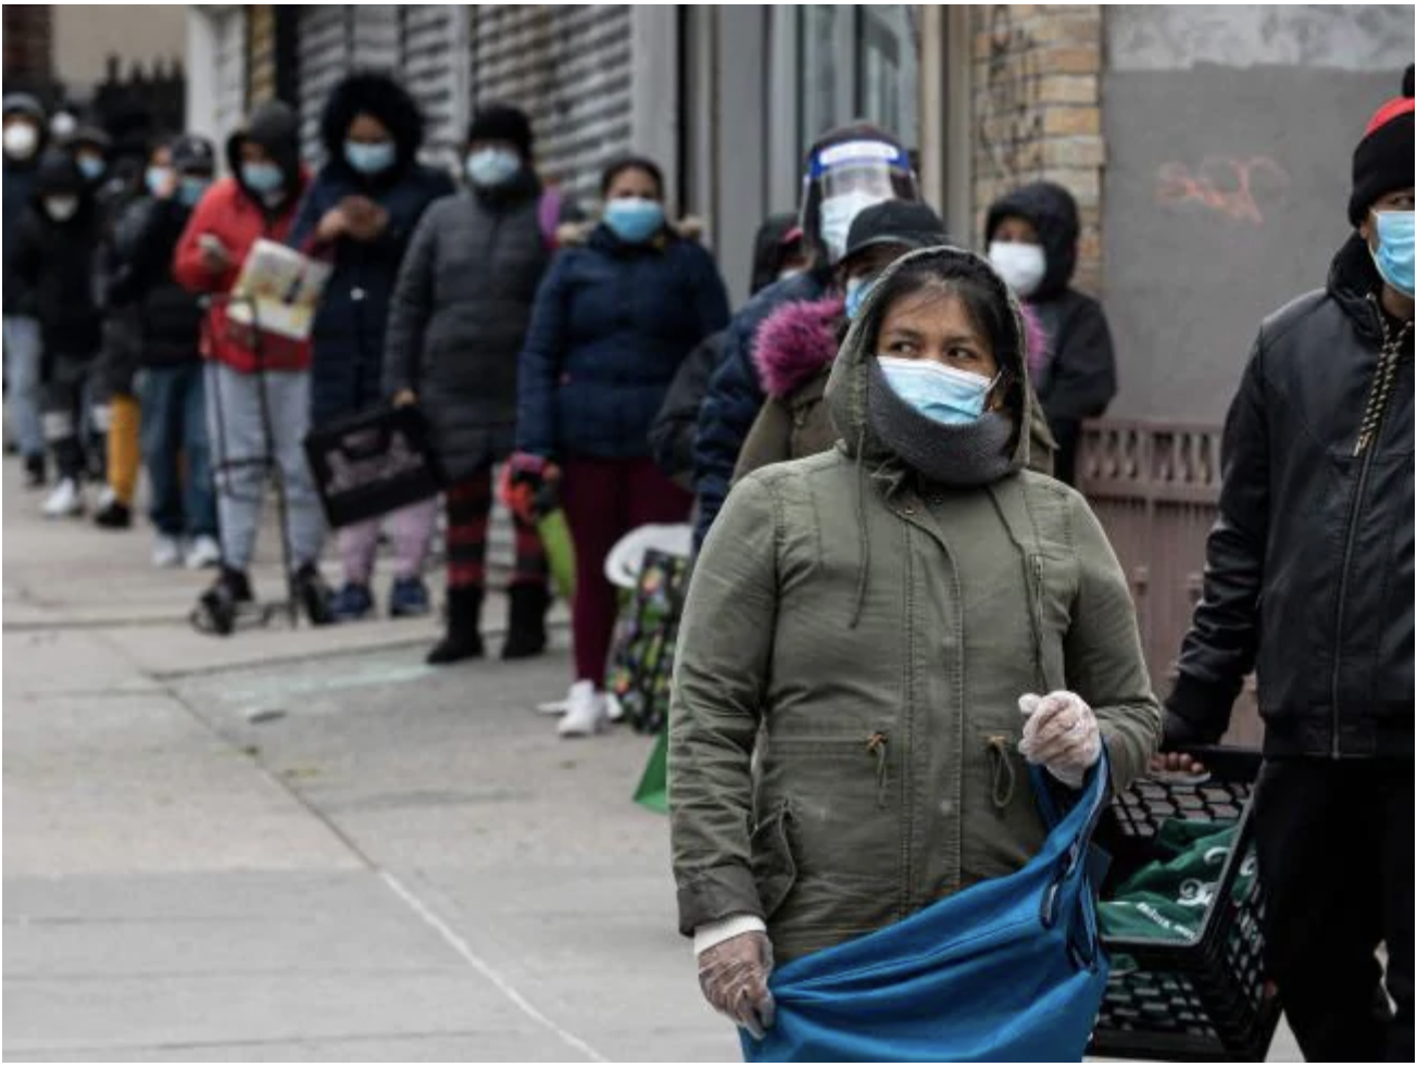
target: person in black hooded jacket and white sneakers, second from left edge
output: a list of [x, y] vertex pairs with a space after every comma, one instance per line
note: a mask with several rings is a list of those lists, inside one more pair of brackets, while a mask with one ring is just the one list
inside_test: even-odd
[[84, 439], [84, 390], [102, 343], [94, 271], [99, 217], [94, 188], [72, 156], [50, 150], [20, 218], [11, 266], [43, 346], [41, 427], [58, 483], [44, 502], [48, 519], [84, 513], [84, 478], [92, 442]]

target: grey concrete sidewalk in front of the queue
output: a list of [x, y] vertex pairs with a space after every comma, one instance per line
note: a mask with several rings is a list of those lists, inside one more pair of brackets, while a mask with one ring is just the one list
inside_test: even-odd
[[[43, 523], [17, 482], [6, 1058], [738, 1058], [674, 932], [665, 819], [629, 799], [649, 740], [533, 711], [563, 632], [441, 670], [432, 621], [200, 636], [208, 575]], [[256, 582], [279, 591], [273, 557]]]

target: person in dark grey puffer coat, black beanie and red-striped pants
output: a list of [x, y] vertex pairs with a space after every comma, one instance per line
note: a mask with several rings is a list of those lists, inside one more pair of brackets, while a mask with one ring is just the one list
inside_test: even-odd
[[[463, 154], [468, 184], [424, 213], [390, 300], [383, 391], [395, 404], [418, 404], [449, 479], [448, 626], [428, 653], [435, 665], [483, 655], [492, 468], [516, 444], [517, 357], [557, 230], [580, 217], [533, 159], [526, 112], [479, 106]], [[502, 657], [526, 659], [546, 649], [548, 565], [536, 527], [513, 521]]]

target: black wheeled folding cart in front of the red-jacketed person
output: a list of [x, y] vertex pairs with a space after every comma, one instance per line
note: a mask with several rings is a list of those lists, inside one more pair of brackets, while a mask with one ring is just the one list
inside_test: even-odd
[[[220, 597], [213, 597], [213, 594], [205, 594], [193, 608], [188, 616], [191, 625], [200, 633], [213, 633], [217, 636], [228, 636], [238, 629], [249, 629], [255, 626], [268, 626], [275, 619], [281, 618], [283, 614], [286, 621], [292, 628], [299, 623], [299, 592], [296, 589], [295, 578], [295, 563], [290, 550], [290, 531], [286, 521], [286, 492], [285, 492], [285, 475], [281, 470], [281, 465], [276, 462], [275, 455], [275, 435], [271, 424], [271, 398], [266, 393], [266, 360], [265, 347], [262, 343], [262, 333], [259, 327], [256, 302], [252, 296], [238, 296], [231, 293], [214, 293], [205, 298], [204, 309], [201, 316], [201, 330], [204, 334], [203, 350], [207, 353], [214, 353], [217, 346], [213, 337], [213, 309], [218, 306], [225, 306], [230, 309], [234, 305], [242, 305], [249, 310], [251, 323], [245, 327], [244, 333], [251, 346], [251, 351], [255, 354], [255, 377], [258, 381], [256, 393], [259, 395], [261, 405], [261, 441], [262, 451], [256, 455], [244, 455], [232, 458], [231, 449], [228, 448], [227, 425], [225, 425], [225, 404], [221, 397], [221, 376], [210, 374], [207, 378], [208, 388], [213, 390], [211, 394], [211, 410], [215, 412], [213, 419], [213, 429], [215, 431], [217, 441], [213, 441], [213, 465], [211, 473], [218, 489], [227, 496], [234, 496], [231, 473], [238, 469], [259, 468], [264, 478], [259, 480], [259, 489], [256, 490], [256, 497], [237, 497], [245, 499], [254, 503], [264, 503], [266, 487], [271, 486], [275, 490], [275, 506], [276, 506], [276, 523], [281, 527], [281, 565], [285, 570], [285, 599], [283, 601], [235, 601], [230, 605], [222, 605], [218, 601]], [[227, 319], [228, 329], [232, 326], [230, 317]]]

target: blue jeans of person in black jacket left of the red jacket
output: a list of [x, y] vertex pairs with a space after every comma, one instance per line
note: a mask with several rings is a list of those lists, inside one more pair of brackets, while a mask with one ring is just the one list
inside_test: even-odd
[[[137, 378], [143, 412], [143, 466], [152, 490], [147, 514], [167, 537], [215, 537], [217, 496], [211, 482], [204, 367], [147, 367]], [[187, 461], [183, 482], [179, 456]]]

